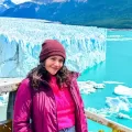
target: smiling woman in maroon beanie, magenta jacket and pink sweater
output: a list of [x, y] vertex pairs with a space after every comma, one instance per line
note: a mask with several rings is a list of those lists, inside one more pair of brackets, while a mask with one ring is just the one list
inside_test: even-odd
[[58, 41], [42, 44], [40, 65], [16, 92], [13, 132], [87, 132], [78, 74], [64, 66], [65, 59]]

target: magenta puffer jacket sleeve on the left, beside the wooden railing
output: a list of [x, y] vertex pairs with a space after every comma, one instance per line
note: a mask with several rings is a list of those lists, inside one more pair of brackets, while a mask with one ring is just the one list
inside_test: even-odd
[[29, 79], [24, 79], [18, 91], [14, 101], [13, 132], [32, 132], [30, 124], [32, 96], [29, 87]]

